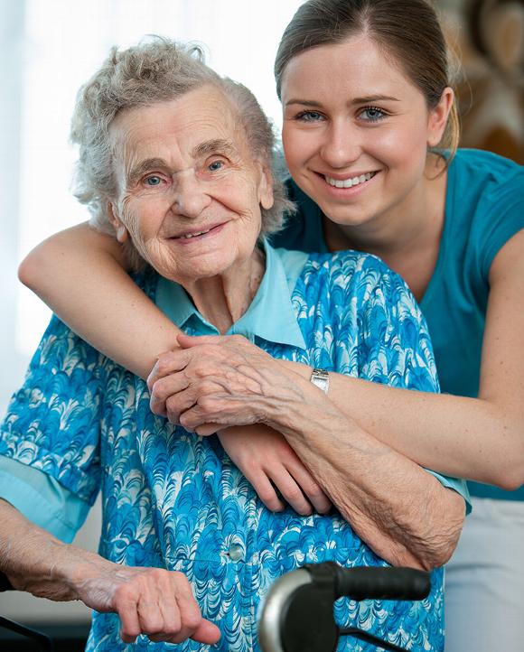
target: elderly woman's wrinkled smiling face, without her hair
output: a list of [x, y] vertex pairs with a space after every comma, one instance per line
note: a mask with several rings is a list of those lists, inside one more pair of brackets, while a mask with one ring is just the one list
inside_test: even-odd
[[128, 232], [148, 263], [182, 284], [248, 261], [271, 179], [219, 89], [123, 112], [111, 135], [118, 239]]

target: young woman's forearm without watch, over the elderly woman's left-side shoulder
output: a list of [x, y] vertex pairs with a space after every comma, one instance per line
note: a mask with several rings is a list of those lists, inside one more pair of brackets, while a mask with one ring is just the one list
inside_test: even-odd
[[178, 346], [180, 331], [127, 275], [117, 240], [88, 224], [34, 248], [19, 277], [80, 337], [140, 377]]

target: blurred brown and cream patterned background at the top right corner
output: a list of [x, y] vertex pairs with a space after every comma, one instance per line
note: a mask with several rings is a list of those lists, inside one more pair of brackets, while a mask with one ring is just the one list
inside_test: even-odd
[[463, 147], [524, 163], [524, 2], [441, 0], [460, 70]]

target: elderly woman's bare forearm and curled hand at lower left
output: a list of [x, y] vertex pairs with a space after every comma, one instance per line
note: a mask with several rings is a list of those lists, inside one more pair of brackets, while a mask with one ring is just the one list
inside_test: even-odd
[[81, 600], [91, 609], [117, 613], [127, 643], [142, 633], [173, 643], [220, 638], [216, 626], [202, 619], [182, 573], [121, 566], [63, 544], [2, 499], [0, 523], [0, 572], [15, 590], [53, 601]]

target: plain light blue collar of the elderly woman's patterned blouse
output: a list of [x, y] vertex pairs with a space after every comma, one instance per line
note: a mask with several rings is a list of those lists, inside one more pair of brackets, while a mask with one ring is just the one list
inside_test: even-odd
[[[305, 349], [304, 336], [296, 321], [291, 293], [304, 266], [307, 254], [274, 249], [264, 240], [266, 272], [253, 302], [227, 335], [239, 334], [254, 341], [263, 338], [278, 344]], [[182, 285], [160, 277], [155, 303], [167, 317], [182, 328], [192, 317], [192, 325], [201, 335], [219, 335], [219, 331], [197, 311]]]

